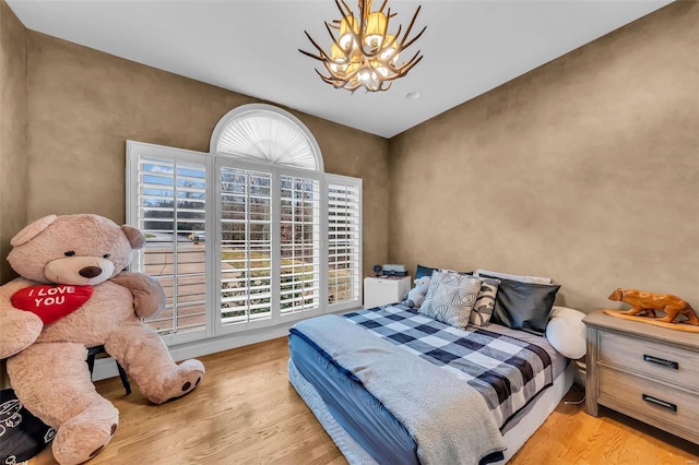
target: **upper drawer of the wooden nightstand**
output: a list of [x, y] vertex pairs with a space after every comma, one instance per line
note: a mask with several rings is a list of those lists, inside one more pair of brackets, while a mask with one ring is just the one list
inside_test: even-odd
[[601, 332], [597, 361], [683, 386], [699, 394], [699, 353], [692, 350]]

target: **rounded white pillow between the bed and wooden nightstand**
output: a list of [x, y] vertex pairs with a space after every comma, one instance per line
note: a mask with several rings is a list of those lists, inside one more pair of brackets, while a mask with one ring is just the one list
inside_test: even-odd
[[567, 307], [555, 307], [546, 325], [546, 338], [562, 356], [577, 360], [588, 351], [585, 339], [585, 314]]

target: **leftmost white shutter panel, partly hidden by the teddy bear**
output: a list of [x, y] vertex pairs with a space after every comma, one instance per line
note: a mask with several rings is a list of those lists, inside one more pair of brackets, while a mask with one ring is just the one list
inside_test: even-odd
[[164, 336], [203, 332], [206, 166], [142, 152], [146, 153], [137, 153], [132, 163], [138, 186], [135, 223], [145, 236], [135, 263], [161, 283], [167, 297], [165, 310], [146, 323]]

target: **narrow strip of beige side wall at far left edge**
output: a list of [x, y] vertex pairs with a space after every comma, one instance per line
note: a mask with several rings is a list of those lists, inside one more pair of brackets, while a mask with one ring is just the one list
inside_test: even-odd
[[26, 189], [25, 29], [0, 1], [0, 284], [16, 276], [5, 258], [26, 224]]

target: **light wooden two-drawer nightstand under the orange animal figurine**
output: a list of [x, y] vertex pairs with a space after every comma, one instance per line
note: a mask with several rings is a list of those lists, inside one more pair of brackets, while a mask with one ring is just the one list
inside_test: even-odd
[[585, 407], [604, 405], [699, 444], [699, 335], [590, 313]]

